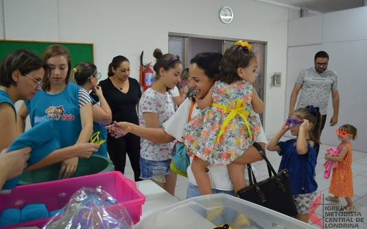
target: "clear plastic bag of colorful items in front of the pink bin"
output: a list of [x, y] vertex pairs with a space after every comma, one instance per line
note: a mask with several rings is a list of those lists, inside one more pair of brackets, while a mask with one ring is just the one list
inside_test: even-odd
[[125, 206], [101, 187], [83, 187], [76, 191], [64, 208], [43, 229], [132, 229], [134, 223]]

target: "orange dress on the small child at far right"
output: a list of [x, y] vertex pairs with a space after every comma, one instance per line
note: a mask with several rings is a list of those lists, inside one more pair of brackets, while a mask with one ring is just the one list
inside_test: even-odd
[[343, 147], [348, 148], [344, 159], [339, 161], [338, 167], [333, 169], [331, 177], [329, 193], [342, 198], [351, 198], [354, 196], [353, 191], [353, 174], [352, 174], [352, 144], [348, 142], [345, 145], [340, 144], [337, 148], [338, 152], [342, 151]]

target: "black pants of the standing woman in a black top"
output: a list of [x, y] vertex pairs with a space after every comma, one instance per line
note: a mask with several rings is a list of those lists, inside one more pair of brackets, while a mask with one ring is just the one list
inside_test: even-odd
[[115, 165], [115, 171], [125, 172], [126, 153], [129, 156], [135, 181], [140, 177], [140, 137], [128, 133], [119, 138], [107, 135], [107, 152]]

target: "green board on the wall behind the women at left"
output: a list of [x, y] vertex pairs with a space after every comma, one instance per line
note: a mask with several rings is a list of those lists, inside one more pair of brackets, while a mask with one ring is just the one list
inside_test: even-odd
[[92, 43], [69, 43], [69, 42], [44, 42], [27, 40], [0, 40], [0, 60], [8, 53], [16, 49], [29, 49], [38, 57], [52, 44], [61, 44], [69, 49], [71, 55], [71, 67], [80, 62], [91, 62], [94, 64]]

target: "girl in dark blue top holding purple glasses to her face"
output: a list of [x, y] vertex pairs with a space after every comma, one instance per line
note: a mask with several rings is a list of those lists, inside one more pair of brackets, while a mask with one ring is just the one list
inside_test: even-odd
[[[279, 171], [289, 171], [298, 211], [295, 218], [305, 223], [309, 221], [309, 209], [317, 196], [318, 184], [313, 174], [316, 166], [316, 143], [320, 144], [320, 126], [321, 113], [318, 107], [311, 105], [296, 109], [267, 146], [268, 150], [278, 151], [282, 156]], [[279, 142], [288, 130], [296, 139]]]

